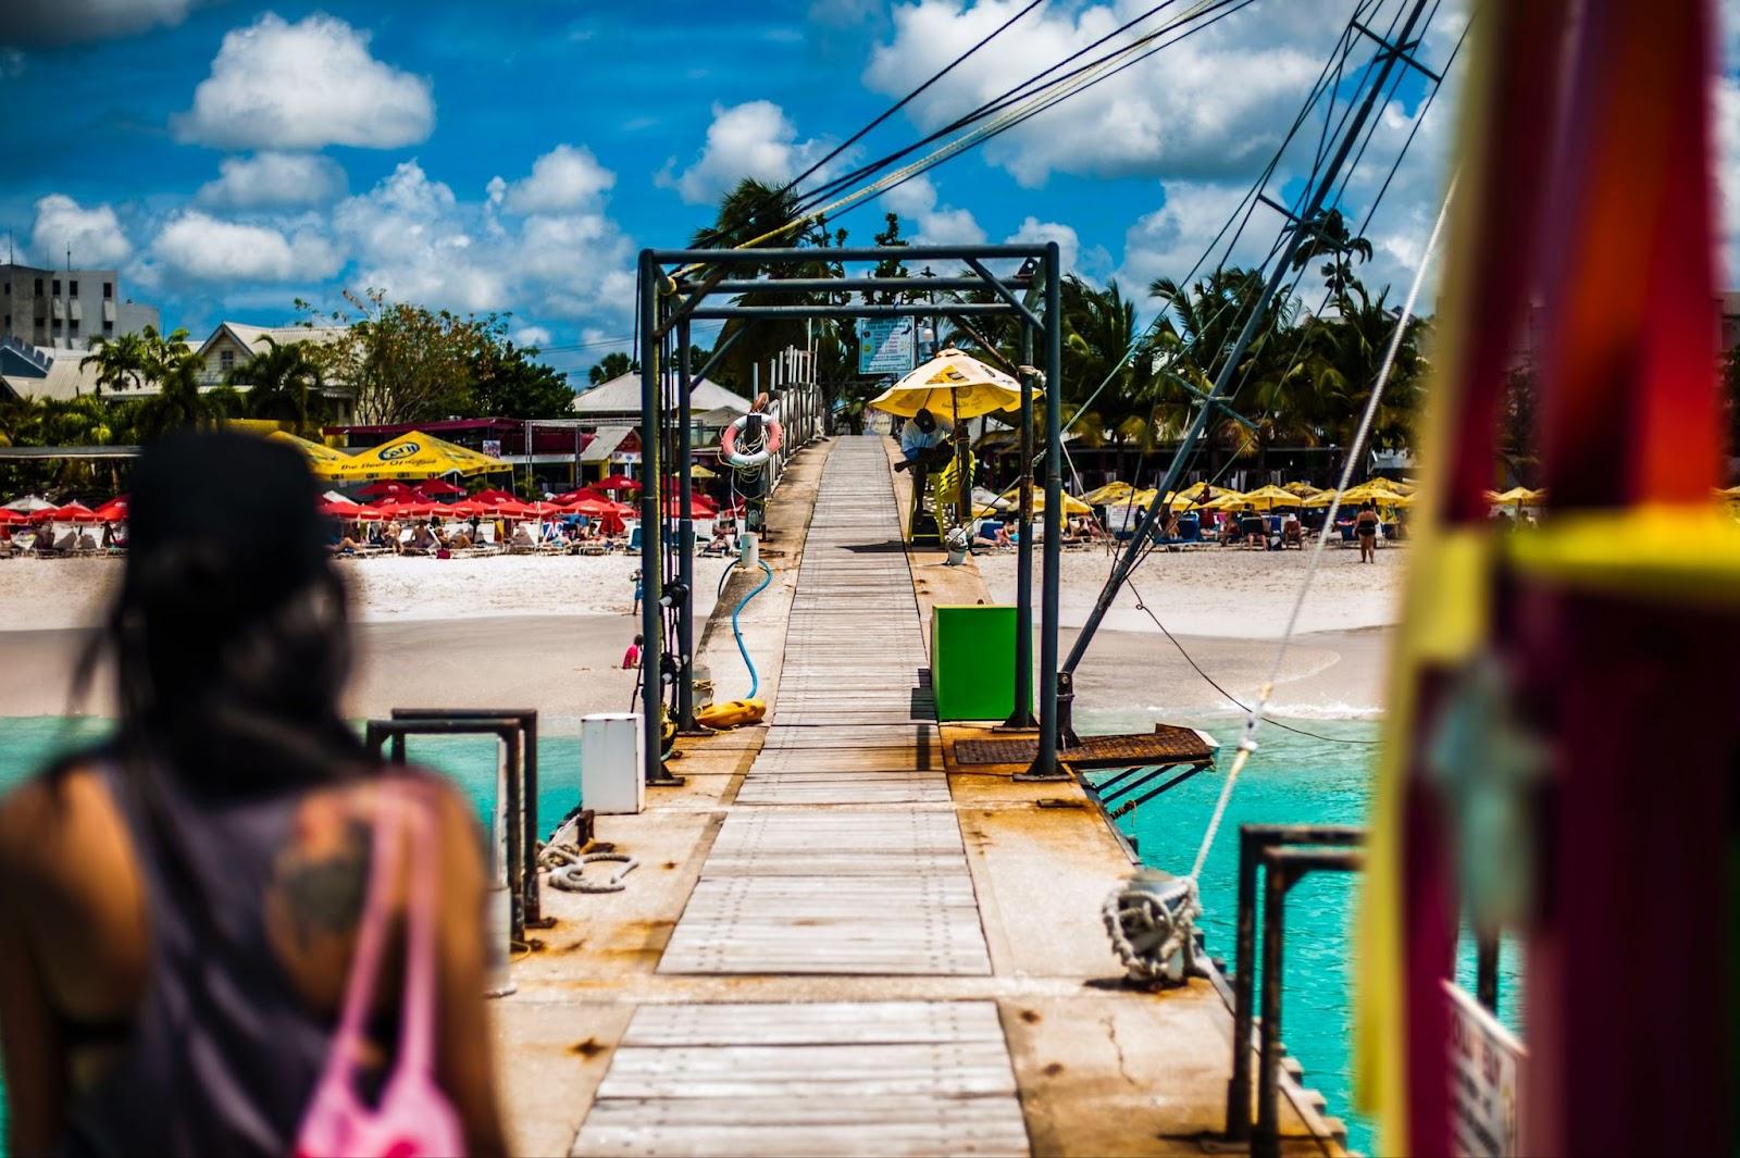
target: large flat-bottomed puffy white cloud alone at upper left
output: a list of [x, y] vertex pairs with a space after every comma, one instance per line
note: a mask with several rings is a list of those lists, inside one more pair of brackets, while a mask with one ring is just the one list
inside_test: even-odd
[[223, 38], [176, 136], [226, 150], [397, 148], [435, 129], [430, 83], [369, 54], [369, 33], [266, 12]]

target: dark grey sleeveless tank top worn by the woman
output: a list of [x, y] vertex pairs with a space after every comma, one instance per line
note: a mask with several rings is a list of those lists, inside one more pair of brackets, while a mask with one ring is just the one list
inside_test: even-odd
[[111, 765], [103, 777], [146, 888], [148, 972], [115, 1068], [71, 1104], [63, 1151], [289, 1155], [336, 1028], [292, 986], [263, 916], [303, 796], [198, 800], [157, 775], [179, 842], [169, 861], [139, 788]]

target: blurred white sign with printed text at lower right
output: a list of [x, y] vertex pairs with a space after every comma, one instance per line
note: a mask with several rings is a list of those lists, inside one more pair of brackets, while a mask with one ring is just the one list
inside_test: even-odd
[[1519, 1155], [1522, 1043], [1462, 986], [1446, 981], [1444, 1000], [1449, 1003], [1451, 1153], [1470, 1158]]

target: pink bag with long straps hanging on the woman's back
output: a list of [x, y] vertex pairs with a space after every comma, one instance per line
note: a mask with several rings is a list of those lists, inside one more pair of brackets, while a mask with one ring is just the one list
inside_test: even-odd
[[393, 836], [400, 817], [416, 847], [433, 845], [426, 810], [405, 805], [402, 793], [383, 786], [374, 821], [374, 868], [345, 988], [345, 1012], [325, 1071], [296, 1135], [296, 1153], [303, 1158], [423, 1158], [465, 1153], [459, 1115], [435, 1085], [435, 883], [425, 869], [411, 873], [411, 895], [405, 902], [405, 993], [398, 1057], [381, 1090], [379, 1106], [367, 1106], [355, 1085], [362, 1022], [374, 1003], [374, 979], [398, 871], [400, 842]]

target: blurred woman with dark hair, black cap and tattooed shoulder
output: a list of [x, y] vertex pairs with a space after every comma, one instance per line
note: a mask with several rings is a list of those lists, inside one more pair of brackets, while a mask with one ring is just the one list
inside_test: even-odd
[[[10, 1151], [285, 1155], [322, 1076], [374, 1095], [419, 1057], [449, 1135], [503, 1151], [480, 840], [339, 715], [345, 591], [306, 466], [165, 438], [130, 530], [99, 640], [117, 734], [0, 800]], [[329, 1062], [341, 1005], [360, 1036]]]

